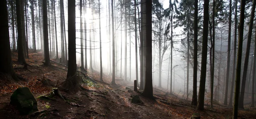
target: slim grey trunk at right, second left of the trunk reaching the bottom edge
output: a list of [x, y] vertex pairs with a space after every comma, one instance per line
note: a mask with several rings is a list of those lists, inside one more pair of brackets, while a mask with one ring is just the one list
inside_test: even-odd
[[230, 75], [230, 42], [231, 42], [231, 14], [232, 14], [232, 0], [230, 0], [229, 7], [229, 20], [228, 20], [228, 45], [227, 45], [227, 74], [226, 74], [226, 86], [225, 86], [225, 98], [224, 105], [227, 105], [227, 95], [228, 95], [228, 81]]

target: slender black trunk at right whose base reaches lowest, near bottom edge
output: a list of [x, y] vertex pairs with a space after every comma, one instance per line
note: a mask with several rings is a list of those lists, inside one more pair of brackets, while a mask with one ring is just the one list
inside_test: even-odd
[[245, 0], [241, 0], [240, 7], [240, 21], [239, 21], [239, 35], [238, 35], [238, 54], [236, 63], [236, 85], [235, 85], [235, 98], [233, 107], [233, 119], [237, 119], [238, 115], [238, 103], [239, 103], [239, 89], [240, 89], [240, 78], [241, 78], [241, 60], [242, 60], [242, 50], [243, 50], [243, 36], [244, 36], [244, 9]]

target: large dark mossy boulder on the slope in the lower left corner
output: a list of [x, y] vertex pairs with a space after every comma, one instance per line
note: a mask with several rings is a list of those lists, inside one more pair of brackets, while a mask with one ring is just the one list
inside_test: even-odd
[[17, 88], [11, 96], [10, 104], [17, 107], [20, 114], [38, 111], [37, 102], [28, 87]]

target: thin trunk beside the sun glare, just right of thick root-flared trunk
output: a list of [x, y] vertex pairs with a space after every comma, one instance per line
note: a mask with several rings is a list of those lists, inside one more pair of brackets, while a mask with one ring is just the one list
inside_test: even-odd
[[83, 11], [83, 1], [80, 0], [81, 70], [84, 70], [84, 33], [82, 32], [83, 31], [83, 18], [82, 18], [83, 12], [82, 11]]

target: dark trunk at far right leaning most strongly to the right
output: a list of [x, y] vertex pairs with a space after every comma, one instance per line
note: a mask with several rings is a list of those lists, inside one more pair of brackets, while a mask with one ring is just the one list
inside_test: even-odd
[[248, 38], [247, 38], [247, 47], [246, 47], [246, 53], [244, 58], [244, 71], [243, 71], [241, 92], [240, 92], [239, 105], [238, 105], [238, 107], [242, 109], [244, 108], [244, 90], [245, 90], [245, 83], [246, 83], [246, 76], [247, 76], [247, 69], [248, 69], [248, 62], [249, 62], [249, 55], [250, 55], [250, 43], [251, 43], [252, 32], [253, 32], [255, 5], [256, 5], [256, 0], [253, 0], [250, 23], [249, 23]]

